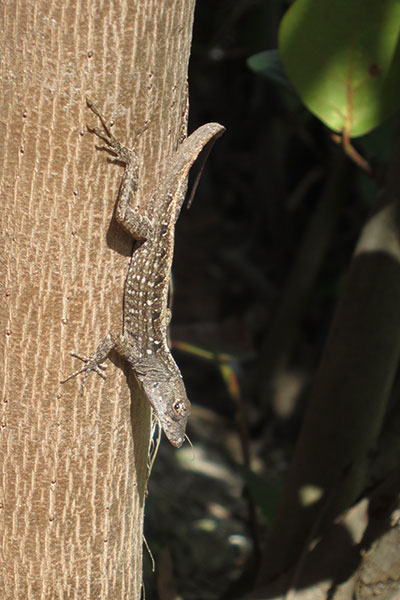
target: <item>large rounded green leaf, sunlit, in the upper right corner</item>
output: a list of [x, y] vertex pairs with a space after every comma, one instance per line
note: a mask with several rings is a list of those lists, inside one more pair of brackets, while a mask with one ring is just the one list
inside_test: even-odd
[[400, 0], [296, 0], [279, 47], [286, 74], [328, 127], [357, 137], [400, 106]]

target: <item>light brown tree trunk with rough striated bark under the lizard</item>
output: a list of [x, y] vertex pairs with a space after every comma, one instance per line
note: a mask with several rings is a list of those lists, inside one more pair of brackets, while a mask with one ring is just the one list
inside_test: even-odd
[[[2, 598], [139, 598], [150, 410], [121, 363], [59, 382], [122, 325], [121, 167], [85, 97], [138, 140], [145, 204], [185, 127], [194, 0], [2, 5]], [[129, 383], [132, 383], [129, 377]]]

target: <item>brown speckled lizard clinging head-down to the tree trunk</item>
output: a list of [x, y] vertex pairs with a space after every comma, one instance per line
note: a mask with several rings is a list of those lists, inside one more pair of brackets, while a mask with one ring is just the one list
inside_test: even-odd
[[[170, 321], [168, 287], [175, 223], [185, 199], [192, 164], [203, 150], [204, 154], [208, 154], [225, 128], [218, 123], [208, 123], [196, 129], [178, 146], [154, 191], [155, 211], [150, 219], [133, 207], [139, 184], [135, 150], [120, 144], [93, 102], [87, 100], [87, 104], [100, 119], [104, 130], [89, 128], [89, 131], [102, 139], [106, 144], [105, 149], [125, 165], [115, 217], [135, 238], [136, 245], [125, 281], [122, 333], [109, 333], [89, 358], [74, 354], [83, 360], [85, 366], [63, 383], [80, 373], [85, 373], [85, 381], [91, 371], [104, 377], [101, 363], [112, 350], [116, 351], [133, 370], [168, 440], [179, 448], [185, 439], [190, 401], [167, 340]], [[197, 181], [198, 178], [194, 189]]]

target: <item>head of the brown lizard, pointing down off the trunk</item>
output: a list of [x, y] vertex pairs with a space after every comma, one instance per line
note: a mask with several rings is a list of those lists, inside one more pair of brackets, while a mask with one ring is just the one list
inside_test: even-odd
[[171, 374], [164, 369], [143, 369], [136, 371], [136, 377], [169, 442], [180, 448], [185, 441], [190, 414], [190, 401], [181, 374], [179, 371]]

